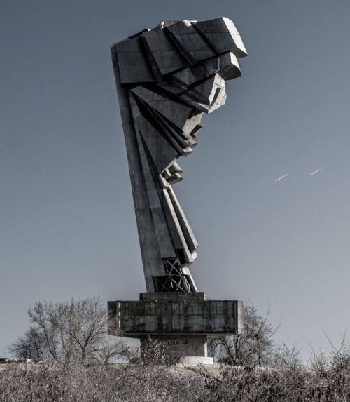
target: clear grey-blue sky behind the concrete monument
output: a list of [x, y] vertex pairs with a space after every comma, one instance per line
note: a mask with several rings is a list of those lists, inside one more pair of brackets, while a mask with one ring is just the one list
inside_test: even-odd
[[197, 286], [305, 353], [350, 326], [349, 0], [0, 0], [0, 355], [36, 300], [145, 290], [109, 46], [220, 16], [248, 57], [174, 185]]

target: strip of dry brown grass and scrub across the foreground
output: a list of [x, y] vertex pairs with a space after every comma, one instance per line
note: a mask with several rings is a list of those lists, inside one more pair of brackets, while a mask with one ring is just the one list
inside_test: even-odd
[[220, 375], [149, 363], [13, 363], [0, 371], [0, 401], [350, 401], [347, 361], [319, 358], [309, 365], [295, 359], [275, 367], [228, 365]]

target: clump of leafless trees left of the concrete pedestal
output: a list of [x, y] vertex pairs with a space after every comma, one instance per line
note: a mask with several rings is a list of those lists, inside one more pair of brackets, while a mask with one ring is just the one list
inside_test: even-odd
[[107, 312], [99, 297], [36, 302], [28, 316], [31, 328], [8, 348], [20, 358], [108, 363], [125, 350], [118, 337], [107, 338]]

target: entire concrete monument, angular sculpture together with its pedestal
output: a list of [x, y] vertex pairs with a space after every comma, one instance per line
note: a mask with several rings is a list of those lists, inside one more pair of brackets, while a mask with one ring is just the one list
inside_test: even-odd
[[190, 272], [198, 243], [173, 185], [182, 180], [179, 157], [197, 145], [203, 114], [225, 104], [225, 81], [241, 75], [246, 49], [233, 22], [218, 18], [161, 22], [111, 52], [147, 292], [109, 302], [118, 327], [110, 333], [192, 342], [182, 351], [207, 357], [207, 335], [241, 329], [241, 302], [198, 292]]

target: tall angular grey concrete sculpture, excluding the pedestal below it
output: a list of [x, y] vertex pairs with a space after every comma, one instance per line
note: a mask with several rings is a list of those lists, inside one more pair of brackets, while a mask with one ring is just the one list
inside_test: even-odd
[[224, 105], [246, 55], [228, 18], [161, 22], [112, 46], [148, 292], [194, 292], [198, 243], [172, 185], [203, 113]]

